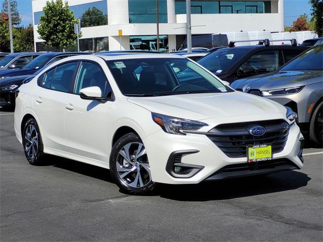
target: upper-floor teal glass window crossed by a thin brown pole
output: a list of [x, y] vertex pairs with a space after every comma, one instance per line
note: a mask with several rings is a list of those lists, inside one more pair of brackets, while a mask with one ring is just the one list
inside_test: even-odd
[[[129, 23], [156, 23], [156, 1], [128, 0]], [[167, 23], [167, 0], [158, 1], [159, 23]]]

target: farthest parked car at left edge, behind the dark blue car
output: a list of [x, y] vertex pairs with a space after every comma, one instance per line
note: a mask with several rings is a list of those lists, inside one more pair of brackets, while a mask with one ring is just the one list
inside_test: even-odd
[[23, 68], [34, 58], [43, 54], [41, 52], [11, 53], [0, 59], [0, 73], [6, 69]]

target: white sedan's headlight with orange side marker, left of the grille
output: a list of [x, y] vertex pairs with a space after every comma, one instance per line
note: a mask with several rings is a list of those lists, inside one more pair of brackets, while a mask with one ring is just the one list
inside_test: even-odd
[[169, 134], [185, 135], [182, 131], [196, 131], [207, 126], [207, 124], [202, 122], [166, 116], [153, 112], [151, 113], [151, 116], [152, 120]]

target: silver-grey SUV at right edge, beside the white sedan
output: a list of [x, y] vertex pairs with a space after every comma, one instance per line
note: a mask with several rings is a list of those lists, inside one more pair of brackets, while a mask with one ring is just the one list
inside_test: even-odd
[[307, 50], [274, 73], [232, 83], [236, 90], [290, 107], [298, 125], [317, 145], [323, 140], [323, 45]]

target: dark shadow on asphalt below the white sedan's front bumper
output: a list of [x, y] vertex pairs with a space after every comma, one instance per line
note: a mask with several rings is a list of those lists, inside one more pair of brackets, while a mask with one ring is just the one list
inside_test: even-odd
[[178, 201], [208, 201], [277, 193], [305, 187], [311, 178], [299, 171], [250, 176], [197, 185], [160, 185], [156, 195]]

